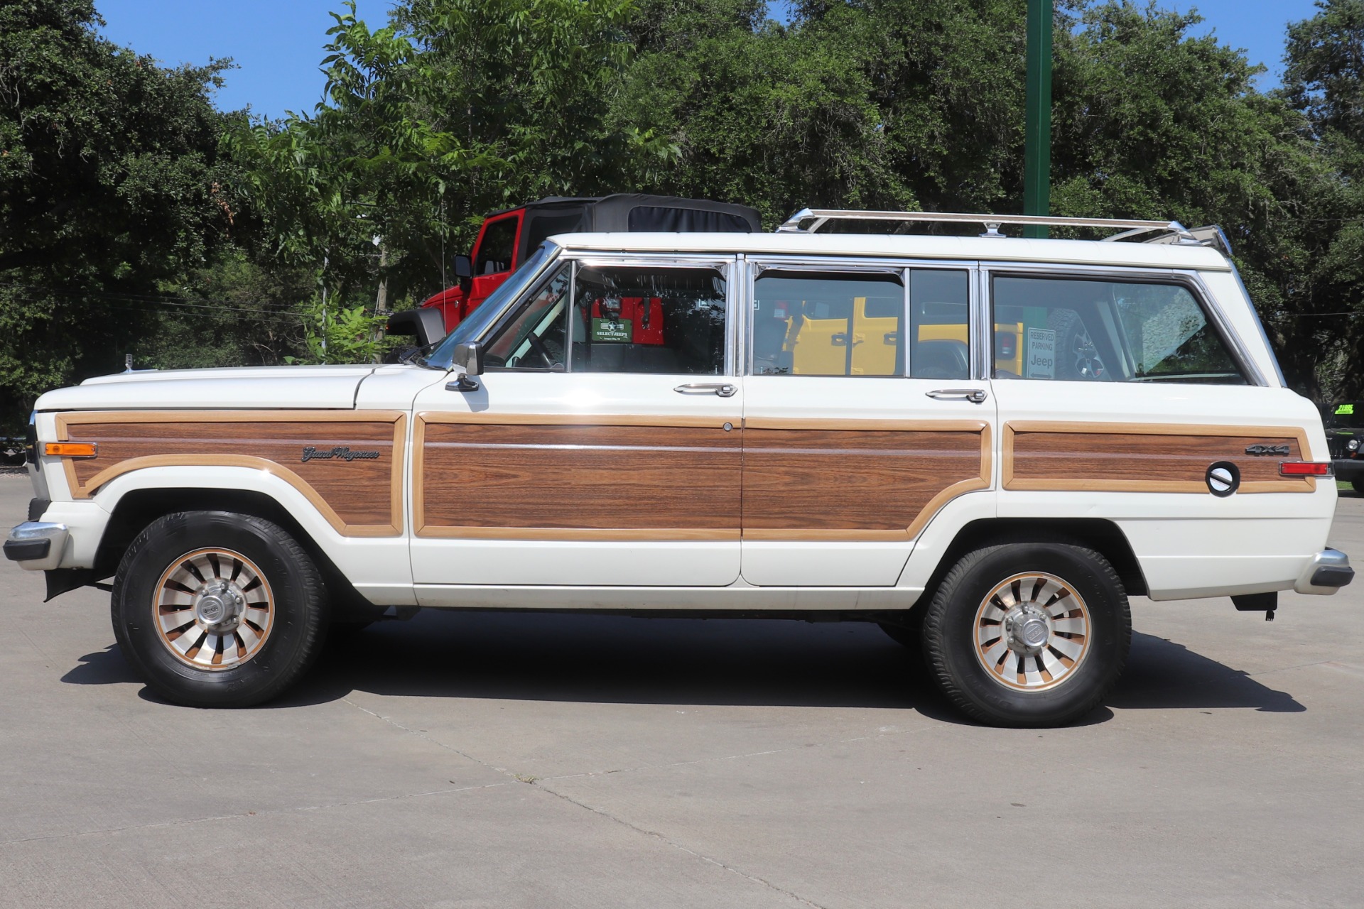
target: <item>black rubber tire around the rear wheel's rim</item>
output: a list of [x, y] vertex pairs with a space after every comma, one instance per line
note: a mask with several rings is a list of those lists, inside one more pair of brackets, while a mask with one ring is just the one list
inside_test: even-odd
[[[1065, 673], [1060, 679], [1048, 681], [1049, 676], [1038, 672], [1041, 690], [1023, 688], [1022, 673], [1015, 676], [1018, 687], [1004, 681], [1008, 672], [988, 669], [985, 647], [977, 647], [978, 619], [985, 616], [989, 621], [988, 597], [1005, 581], [1026, 572], [1050, 575], [1078, 594], [1080, 609], [1064, 615], [1082, 615], [1086, 623], [1083, 638], [1049, 632], [1042, 649], [1057, 661], [1054, 665], [1064, 662], [1060, 661], [1064, 654], [1052, 650], [1053, 646], [1073, 649], [1080, 641], [1083, 649], [1073, 665], [1057, 671]], [[1033, 590], [1034, 598], [1038, 591], [1041, 598], [1048, 597], [1041, 586]], [[1064, 596], [1052, 598], [1053, 604], [1063, 601]], [[1005, 615], [1019, 617], [1016, 612]], [[998, 626], [1003, 628], [1004, 623]], [[923, 620], [923, 656], [934, 680], [962, 713], [994, 726], [1060, 726], [1084, 717], [1117, 681], [1131, 642], [1132, 615], [1113, 567], [1093, 549], [1054, 542], [1009, 544], [967, 553], [943, 579]], [[1009, 658], [1004, 653], [996, 665], [1008, 668]], [[1038, 654], [1028, 669], [1039, 671], [1043, 658], [1048, 657]], [[1019, 662], [1027, 660], [1034, 657]]]

